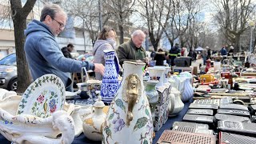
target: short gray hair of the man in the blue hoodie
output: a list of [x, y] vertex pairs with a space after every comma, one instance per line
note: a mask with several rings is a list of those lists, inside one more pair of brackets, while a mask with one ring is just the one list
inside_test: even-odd
[[66, 16], [66, 12], [62, 10], [61, 6], [58, 6], [53, 3], [46, 4], [46, 6], [42, 8], [40, 22], [45, 21], [47, 15], [49, 15], [50, 18], [55, 18], [56, 13], [62, 13]]

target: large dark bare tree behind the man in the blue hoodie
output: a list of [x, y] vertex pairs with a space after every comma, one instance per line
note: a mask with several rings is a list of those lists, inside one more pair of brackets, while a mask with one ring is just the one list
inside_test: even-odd
[[15, 49], [17, 56], [17, 69], [18, 69], [18, 92], [24, 92], [30, 85], [30, 70], [26, 63], [26, 56], [24, 52], [25, 35], [24, 30], [26, 29], [26, 18], [33, 9], [36, 0], [26, 1], [22, 5], [21, 0], [6, 0], [6, 11], [2, 15], [2, 19], [12, 18], [14, 24], [14, 38], [15, 38]]

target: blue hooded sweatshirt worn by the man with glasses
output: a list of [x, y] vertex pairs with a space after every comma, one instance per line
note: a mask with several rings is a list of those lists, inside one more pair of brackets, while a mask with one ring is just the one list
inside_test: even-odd
[[94, 64], [65, 58], [50, 28], [43, 22], [33, 20], [25, 30], [26, 42], [24, 50], [26, 61], [30, 66], [33, 79], [44, 74], [55, 74], [62, 79], [66, 88], [71, 86], [71, 74], [86, 70], [94, 70]]

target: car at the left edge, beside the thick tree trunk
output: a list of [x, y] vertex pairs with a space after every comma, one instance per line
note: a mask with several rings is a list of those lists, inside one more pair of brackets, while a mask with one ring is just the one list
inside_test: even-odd
[[0, 88], [17, 90], [16, 54], [7, 55], [0, 60]]

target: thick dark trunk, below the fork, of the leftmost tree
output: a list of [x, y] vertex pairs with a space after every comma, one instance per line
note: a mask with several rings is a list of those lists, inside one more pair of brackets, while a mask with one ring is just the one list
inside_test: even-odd
[[14, 20], [14, 37], [17, 56], [17, 74], [18, 74], [18, 89], [20, 93], [25, 92], [30, 86], [31, 77], [30, 70], [26, 63], [26, 55], [24, 52], [26, 19], [15, 18]]

